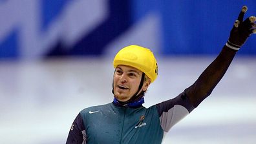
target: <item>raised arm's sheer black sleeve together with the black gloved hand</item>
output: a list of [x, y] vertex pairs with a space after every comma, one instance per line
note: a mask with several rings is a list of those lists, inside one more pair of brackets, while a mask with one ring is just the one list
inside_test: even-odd
[[246, 39], [251, 34], [256, 33], [255, 21], [256, 17], [248, 17], [243, 21], [244, 14], [247, 11], [247, 7], [243, 6], [239, 14], [237, 21], [231, 29], [228, 42], [222, 48], [219, 56], [202, 72], [197, 81], [193, 83], [189, 88], [186, 88], [186, 96], [190, 99], [193, 107], [197, 107], [205, 98], [211, 94], [213, 88], [219, 83], [220, 79], [228, 70], [228, 67], [233, 60], [233, 57], [244, 45]]

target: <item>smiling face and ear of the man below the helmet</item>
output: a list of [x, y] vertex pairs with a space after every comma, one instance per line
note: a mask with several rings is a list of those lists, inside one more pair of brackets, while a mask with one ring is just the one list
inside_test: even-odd
[[[141, 79], [142, 71], [134, 67], [118, 65], [113, 77], [113, 90], [115, 98], [119, 101], [128, 101], [131, 99], [137, 92]], [[147, 80], [144, 81], [144, 85], [142, 86], [140, 92], [142, 92], [142, 90], [147, 90], [149, 84], [150, 80], [147, 78]], [[140, 94], [140, 92], [138, 92], [138, 94]]]

